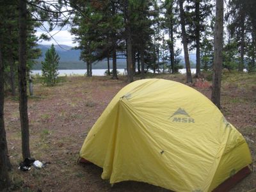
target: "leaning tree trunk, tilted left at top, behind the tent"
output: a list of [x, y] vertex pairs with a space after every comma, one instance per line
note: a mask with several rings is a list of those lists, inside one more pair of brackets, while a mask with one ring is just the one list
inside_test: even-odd
[[188, 55], [188, 40], [187, 40], [185, 20], [184, 20], [183, 1], [184, 0], [179, 0], [181, 35], [182, 35], [182, 43], [183, 43], [184, 57], [185, 57], [185, 63], [186, 63], [187, 83], [192, 83], [192, 76], [191, 76], [191, 69], [190, 69], [190, 62], [189, 62], [189, 55]]

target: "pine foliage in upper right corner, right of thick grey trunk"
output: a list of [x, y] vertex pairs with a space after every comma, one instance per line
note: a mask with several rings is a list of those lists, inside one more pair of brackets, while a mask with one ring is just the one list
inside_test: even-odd
[[224, 56], [224, 67], [228, 70], [243, 72], [255, 71], [255, 37], [256, 37], [256, 1], [228, 1], [228, 12], [225, 15], [228, 43]]

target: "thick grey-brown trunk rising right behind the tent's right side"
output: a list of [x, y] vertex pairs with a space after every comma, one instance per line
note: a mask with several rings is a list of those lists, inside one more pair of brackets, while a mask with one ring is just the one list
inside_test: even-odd
[[223, 49], [223, 0], [216, 0], [216, 21], [214, 29], [214, 58], [212, 74], [212, 102], [220, 109], [221, 69]]

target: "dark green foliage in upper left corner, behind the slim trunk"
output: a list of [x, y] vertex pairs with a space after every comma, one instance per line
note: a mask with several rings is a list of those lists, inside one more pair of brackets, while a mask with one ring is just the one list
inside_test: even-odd
[[[28, 11], [31, 8], [28, 6]], [[6, 90], [11, 90], [18, 85], [19, 66], [19, 8], [17, 1], [1, 1], [0, 8], [0, 42], [4, 63], [4, 85]], [[28, 14], [26, 34], [26, 67], [31, 70], [35, 59], [41, 54], [40, 49], [35, 49], [38, 38], [33, 30], [38, 23]], [[13, 83], [13, 84], [12, 84]], [[12, 86], [13, 85], [13, 86]]]

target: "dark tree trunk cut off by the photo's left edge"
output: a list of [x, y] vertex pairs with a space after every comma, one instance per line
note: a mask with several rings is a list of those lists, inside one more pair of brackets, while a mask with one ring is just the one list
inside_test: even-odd
[[8, 167], [10, 167], [10, 160], [4, 129], [4, 66], [0, 42], [0, 189], [10, 186]]

